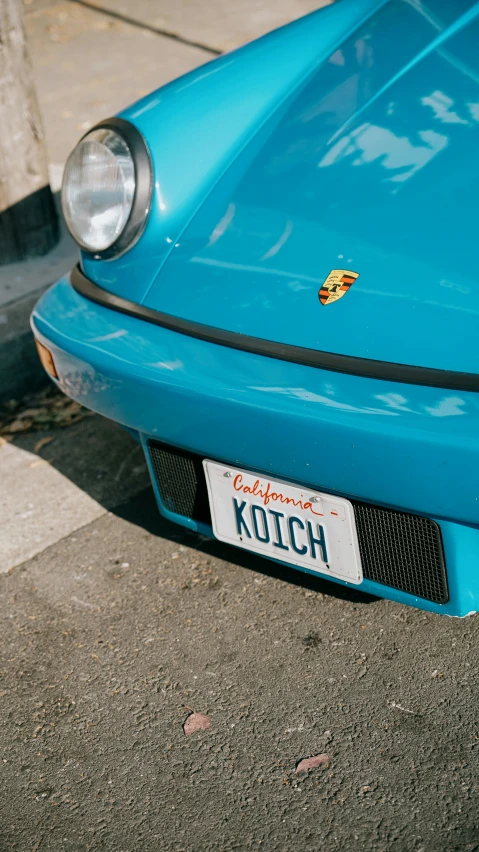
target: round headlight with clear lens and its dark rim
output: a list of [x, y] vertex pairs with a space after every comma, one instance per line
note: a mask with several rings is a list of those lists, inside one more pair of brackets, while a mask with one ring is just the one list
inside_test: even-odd
[[[100, 256], [112, 247], [121, 251], [133, 241], [148, 213], [150, 196], [149, 169], [148, 186], [138, 193], [138, 146], [140, 160], [145, 156], [149, 160], [140, 134], [121, 119], [110, 120], [113, 123], [119, 132], [115, 125], [106, 125], [80, 140], [67, 161], [62, 186], [68, 230], [81, 248]], [[125, 125], [130, 139], [122, 132]]]

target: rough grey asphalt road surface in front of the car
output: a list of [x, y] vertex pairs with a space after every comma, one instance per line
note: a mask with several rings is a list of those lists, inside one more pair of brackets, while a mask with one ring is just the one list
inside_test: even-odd
[[117, 426], [53, 427], [0, 467], [98, 509], [0, 578], [0, 849], [479, 848], [477, 618], [188, 533]]

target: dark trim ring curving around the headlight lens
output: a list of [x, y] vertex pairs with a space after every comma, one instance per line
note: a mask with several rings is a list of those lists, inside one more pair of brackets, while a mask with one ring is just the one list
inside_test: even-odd
[[121, 136], [130, 151], [135, 174], [135, 190], [131, 210], [122, 232], [115, 242], [106, 249], [89, 250], [84, 248], [79, 245], [75, 235], [68, 228], [68, 223], [67, 228], [85, 257], [90, 260], [111, 260], [131, 249], [140, 238], [146, 225], [153, 195], [153, 165], [142, 134], [129, 121], [117, 117], [100, 121], [81, 137], [77, 145], [80, 145], [95, 130], [114, 131]]

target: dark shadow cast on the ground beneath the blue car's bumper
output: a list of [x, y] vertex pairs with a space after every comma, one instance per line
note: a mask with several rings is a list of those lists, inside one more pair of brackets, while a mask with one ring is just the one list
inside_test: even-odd
[[[77, 422], [65, 425], [62, 421], [65, 411], [56, 406], [61, 406], [64, 400], [68, 413], [69, 401], [54, 391], [53, 395], [54, 401], [50, 401], [48, 409], [50, 428], [16, 434], [15, 445], [44, 459], [114, 515], [159, 539], [184, 544], [285, 583], [357, 603], [378, 600], [358, 589], [207, 539], [166, 520], [156, 504], [142, 447], [134, 438], [116, 423], [91, 412], [83, 411]], [[52, 420], [55, 417], [59, 418], [59, 425]]]

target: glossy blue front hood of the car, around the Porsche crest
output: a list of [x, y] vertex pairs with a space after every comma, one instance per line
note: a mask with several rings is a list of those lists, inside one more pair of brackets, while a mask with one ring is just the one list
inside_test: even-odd
[[[143, 304], [284, 344], [479, 372], [471, 6], [391, 2], [363, 23], [235, 159]], [[332, 270], [354, 281], [322, 304]]]

